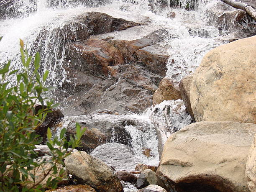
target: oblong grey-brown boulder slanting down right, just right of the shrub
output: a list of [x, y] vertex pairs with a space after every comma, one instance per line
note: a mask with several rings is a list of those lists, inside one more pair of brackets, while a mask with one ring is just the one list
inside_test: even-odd
[[65, 166], [80, 184], [88, 184], [98, 192], [123, 192], [118, 177], [110, 167], [84, 151], [67, 156]]

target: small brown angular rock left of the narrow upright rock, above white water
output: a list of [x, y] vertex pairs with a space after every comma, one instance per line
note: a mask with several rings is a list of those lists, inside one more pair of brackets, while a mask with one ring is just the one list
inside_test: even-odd
[[172, 78], [164, 77], [153, 95], [153, 105], [159, 104], [164, 100], [178, 100], [181, 98], [179, 82]]

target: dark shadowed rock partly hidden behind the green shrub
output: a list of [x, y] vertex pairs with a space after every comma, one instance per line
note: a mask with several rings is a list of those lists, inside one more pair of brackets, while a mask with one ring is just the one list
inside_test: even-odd
[[[38, 113], [38, 110], [42, 109], [42, 105], [35, 105], [35, 113]], [[36, 134], [40, 135], [43, 138], [42, 144], [46, 142], [46, 133], [47, 129], [54, 126], [54, 124], [59, 120], [60, 118], [64, 118], [64, 115], [61, 113], [61, 110], [59, 109], [51, 109], [50, 113], [47, 113], [46, 118], [43, 123], [41, 123], [38, 128], [36, 128]]]

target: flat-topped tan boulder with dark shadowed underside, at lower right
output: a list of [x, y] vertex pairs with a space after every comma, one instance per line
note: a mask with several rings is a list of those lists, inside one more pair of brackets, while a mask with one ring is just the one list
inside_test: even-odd
[[255, 133], [252, 123], [187, 125], [166, 141], [156, 174], [177, 192], [249, 192], [244, 174]]

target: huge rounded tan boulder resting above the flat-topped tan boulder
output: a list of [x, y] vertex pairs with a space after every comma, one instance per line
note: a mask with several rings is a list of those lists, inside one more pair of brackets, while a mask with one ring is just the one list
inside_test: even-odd
[[196, 121], [256, 123], [256, 36], [209, 51], [191, 84]]

